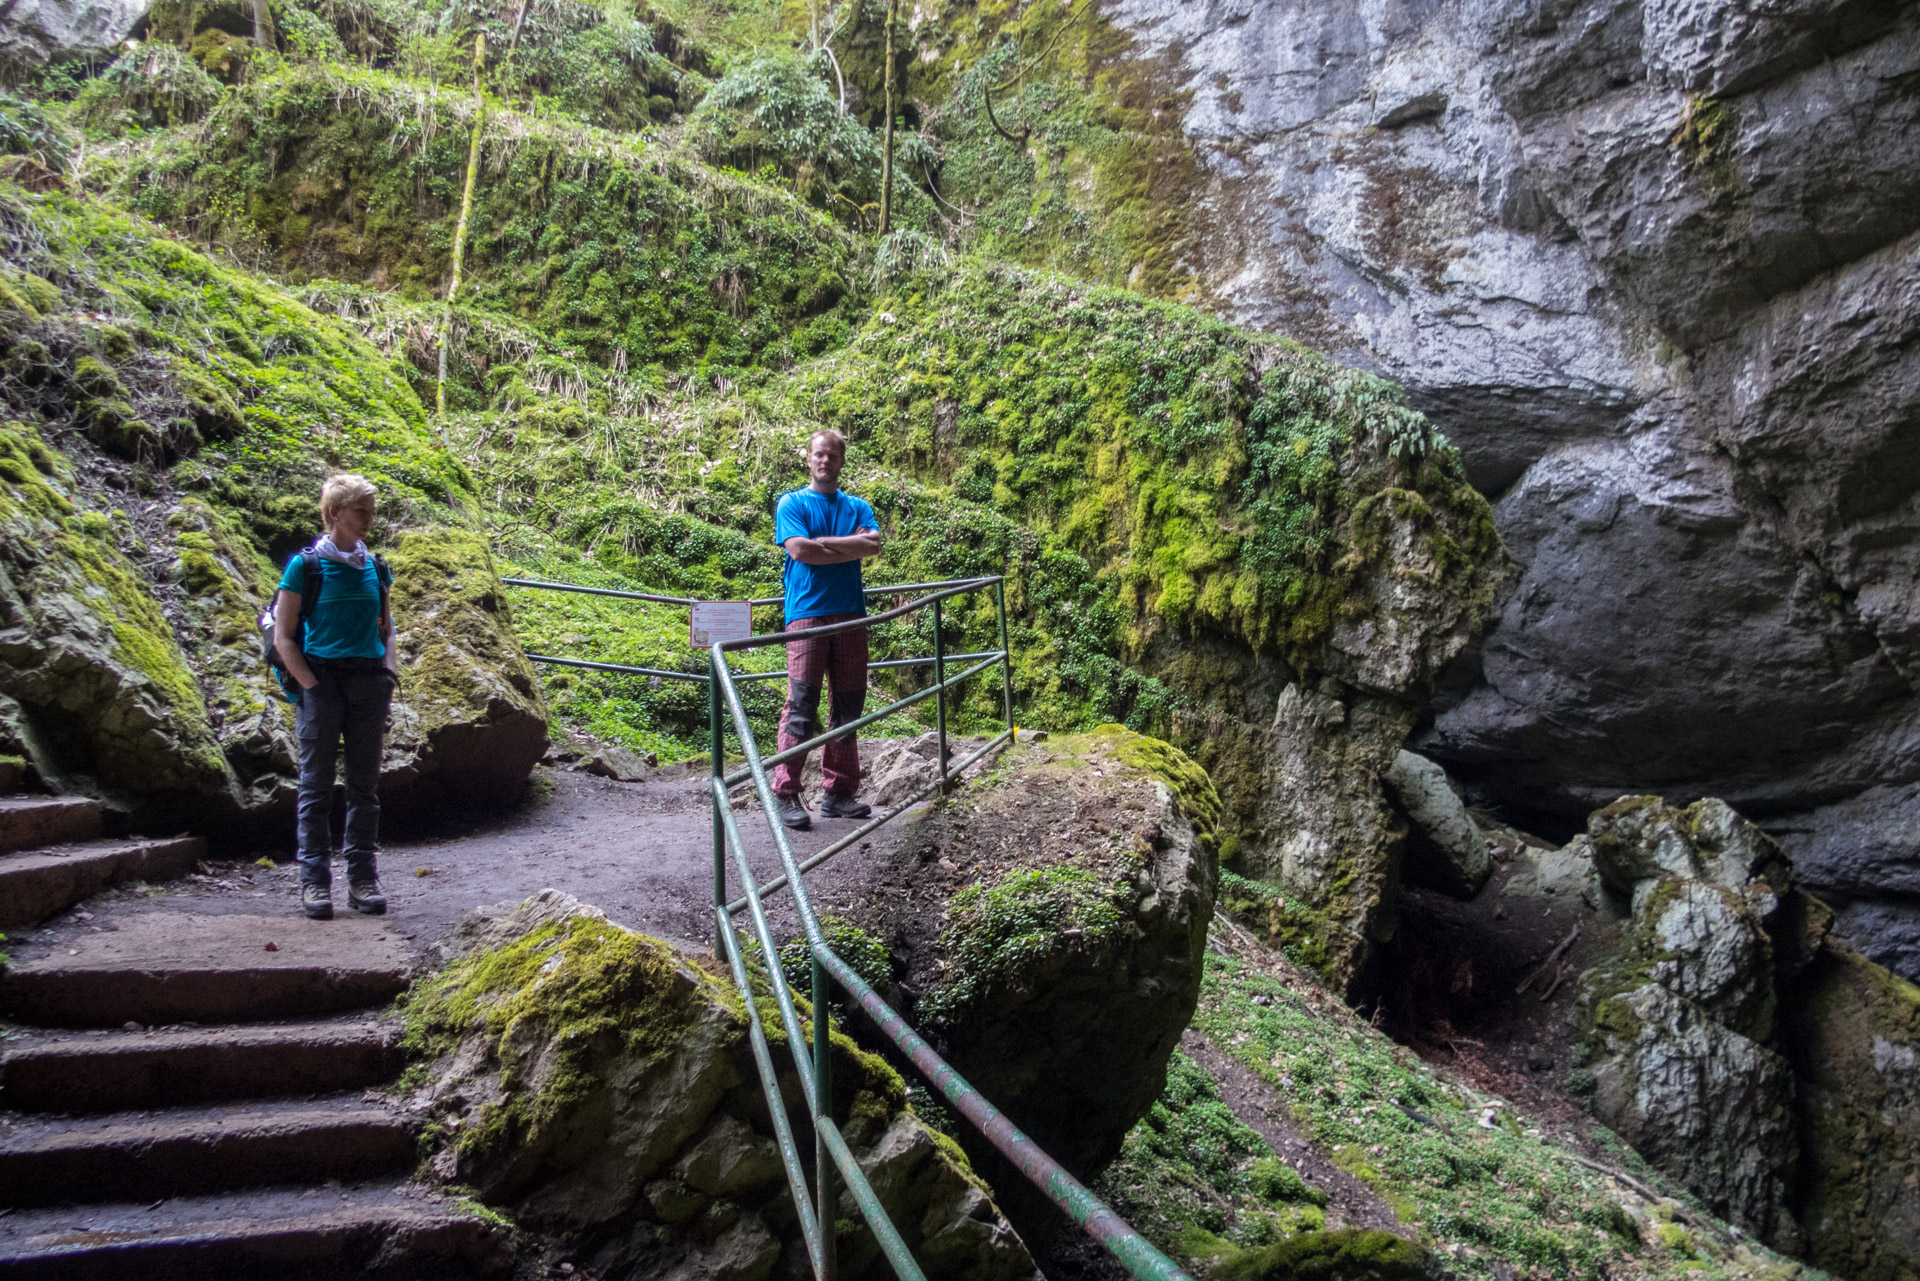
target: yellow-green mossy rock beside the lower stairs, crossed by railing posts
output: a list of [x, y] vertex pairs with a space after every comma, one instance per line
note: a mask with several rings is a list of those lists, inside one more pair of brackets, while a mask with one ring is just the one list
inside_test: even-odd
[[[444, 956], [407, 1008], [436, 1175], [564, 1237], [609, 1281], [810, 1275], [745, 1006], [710, 960], [551, 889], [474, 912]], [[758, 1004], [804, 1137], [778, 1010]], [[833, 1045], [835, 1116], [925, 1273], [1037, 1277], [966, 1156], [906, 1106], [899, 1074], [839, 1033]], [[851, 1195], [839, 1220], [841, 1275], [893, 1275]]]

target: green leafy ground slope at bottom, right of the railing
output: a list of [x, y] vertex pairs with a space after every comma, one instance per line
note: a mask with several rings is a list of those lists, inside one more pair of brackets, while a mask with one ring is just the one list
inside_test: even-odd
[[1296, 1275], [1275, 1243], [1348, 1250], [1348, 1269], [1302, 1275], [1432, 1275], [1436, 1264], [1461, 1277], [1542, 1281], [1824, 1275], [1743, 1241], [1599, 1131], [1597, 1164], [1626, 1179], [1603, 1173], [1576, 1139], [1423, 1064], [1244, 935], [1231, 955], [1208, 953], [1192, 1026], [1271, 1089], [1302, 1139], [1384, 1198], [1396, 1231], [1417, 1245], [1411, 1260], [1392, 1246], [1352, 1256], [1357, 1239], [1382, 1250], [1379, 1233], [1327, 1233], [1325, 1191], [1273, 1160], [1206, 1068], [1175, 1056], [1165, 1093], [1096, 1189], [1208, 1275]]

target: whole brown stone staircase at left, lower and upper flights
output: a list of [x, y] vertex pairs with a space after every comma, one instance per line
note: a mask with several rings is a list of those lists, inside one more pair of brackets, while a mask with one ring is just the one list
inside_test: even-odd
[[[0, 855], [0, 920], [180, 876], [204, 853], [196, 837], [98, 834], [88, 801], [0, 797], [0, 849], [13, 851]], [[8, 947], [0, 1281], [511, 1269], [505, 1229], [409, 1181], [413, 1120], [372, 1089], [401, 1068], [380, 1008], [411, 962], [380, 918], [132, 901]]]

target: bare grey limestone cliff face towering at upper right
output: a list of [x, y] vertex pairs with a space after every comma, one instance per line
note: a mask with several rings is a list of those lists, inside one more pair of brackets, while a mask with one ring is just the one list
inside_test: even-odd
[[1423, 751], [1567, 812], [1920, 778], [1912, 6], [1104, 13], [1215, 305], [1402, 380], [1496, 499], [1521, 576]]

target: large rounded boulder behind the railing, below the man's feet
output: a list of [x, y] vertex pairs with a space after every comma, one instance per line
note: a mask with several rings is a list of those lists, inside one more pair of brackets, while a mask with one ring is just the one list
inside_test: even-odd
[[[904, 966], [908, 1016], [1068, 1170], [1119, 1150], [1200, 997], [1219, 799], [1119, 726], [1016, 747], [908, 826], [849, 916]], [[1048, 1212], [970, 1135], [1023, 1231]]]

